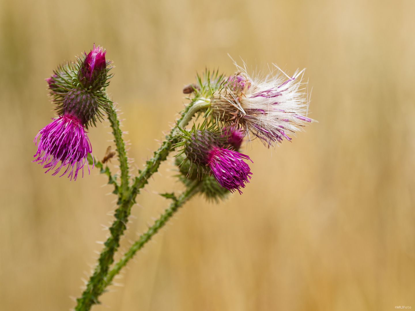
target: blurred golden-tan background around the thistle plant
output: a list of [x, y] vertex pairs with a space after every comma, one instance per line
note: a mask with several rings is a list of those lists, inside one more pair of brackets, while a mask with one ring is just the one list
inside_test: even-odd
[[[0, 310], [75, 306], [112, 221], [98, 170], [69, 182], [31, 163], [54, 115], [44, 79], [93, 43], [116, 66], [109, 90], [139, 168], [196, 71], [233, 73], [227, 53], [306, 67], [319, 121], [275, 150], [248, 145], [244, 194], [186, 204], [94, 310], [415, 308], [413, 12], [409, 0], [2, 0]], [[103, 125], [89, 131], [98, 158]], [[181, 189], [172, 168], [138, 196], [124, 250], [168, 205], [154, 192]]]

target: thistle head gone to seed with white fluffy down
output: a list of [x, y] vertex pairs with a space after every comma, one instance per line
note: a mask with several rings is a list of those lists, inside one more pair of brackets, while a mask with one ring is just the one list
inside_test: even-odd
[[308, 97], [301, 83], [304, 70], [288, 76], [276, 65], [276, 72], [265, 77], [238, 73], [225, 78], [212, 98], [212, 115], [261, 138], [268, 146], [291, 141], [288, 134], [302, 130], [314, 120], [307, 117]]

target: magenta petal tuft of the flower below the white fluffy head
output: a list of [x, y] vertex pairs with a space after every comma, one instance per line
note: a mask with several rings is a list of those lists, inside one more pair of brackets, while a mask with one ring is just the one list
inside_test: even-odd
[[230, 192], [238, 190], [242, 194], [240, 188], [245, 187], [252, 175], [249, 165], [243, 159], [252, 162], [249, 156], [237, 151], [213, 147], [208, 154], [207, 165], [219, 185]]

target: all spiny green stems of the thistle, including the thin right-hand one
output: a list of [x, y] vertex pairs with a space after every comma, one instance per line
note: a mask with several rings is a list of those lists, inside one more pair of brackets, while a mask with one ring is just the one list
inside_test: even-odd
[[139, 172], [139, 176], [134, 178], [134, 182], [131, 186], [129, 185], [129, 167], [127, 153], [125, 151], [125, 142], [122, 138], [122, 131], [120, 130], [120, 121], [118, 119], [117, 112], [115, 111], [114, 103], [111, 102], [108, 105], [107, 116], [112, 128], [114, 142], [117, 146], [117, 155], [121, 170], [121, 184], [118, 185], [116, 177], [111, 174], [108, 167], [104, 169], [103, 164], [97, 160], [94, 161], [92, 156], [89, 156], [88, 160], [91, 164], [95, 162], [95, 166], [100, 168], [100, 172], [105, 173], [108, 176], [108, 183], [114, 185], [115, 189], [113, 193], [118, 195], [117, 205], [119, 207], [115, 210], [115, 220], [109, 228], [110, 236], [104, 243], [104, 249], [100, 253], [93, 275], [89, 278], [82, 296], [76, 299], [77, 306], [74, 309], [75, 311], [88, 311], [93, 304], [99, 304], [98, 297], [110, 284], [114, 275], [118, 273], [115, 273], [115, 271], [119, 271], [127, 263], [127, 261], [132, 258], [134, 253], [142, 248], [142, 246], [157, 233], [159, 228], [164, 226], [171, 215], [179, 207], [181, 207], [183, 203], [190, 199], [193, 194], [195, 194], [196, 187], [191, 186], [179, 197], [179, 199], [173, 199], [173, 203], [169, 208], [169, 211], [166, 210], [166, 214], [161, 216], [161, 220], [156, 221], [156, 224], [150, 228], [149, 232], [147, 232], [144, 237], [140, 237], [140, 239], [134, 243], [135, 246], [133, 245], [132, 249], [125, 254], [125, 257], [123, 258], [124, 261], [117, 263], [117, 265], [111, 270], [110, 275], [112, 275], [112, 277], [109, 277], [108, 271], [114, 262], [115, 252], [117, 252], [120, 246], [120, 238], [127, 228], [126, 224], [128, 222], [129, 215], [131, 214], [131, 208], [135, 204], [135, 198], [139, 193], [139, 190], [142, 189], [148, 183], [149, 178], [157, 172], [161, 162], [167, 159], [167, 156], [170, 151], [172, 151], [173, 146], [178, 142], [180, 137], [178, 136], [178, 126], [186, 126], [196, 112], [202, 108], [208, 107], [209, 104], [210, 102], [199, 100], [183, 109], [183, 112], [181, 113], [182, 117], [178, 119], [177, 125], [171, 129], [169, 134], [166, 135], [166, 139], [163, 141], [160, 148], [154, 152], [153, 157], [146, 161], [145, 168]]

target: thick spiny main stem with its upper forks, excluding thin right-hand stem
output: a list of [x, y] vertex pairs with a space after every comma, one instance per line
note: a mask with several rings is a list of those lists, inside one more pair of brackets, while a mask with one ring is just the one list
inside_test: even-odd
[[[99, 303], [98, 297], [104, 292], [105, 287], [107, 286], [105, 277], [107, 276], [110, 265], [112, 265], [114, 262], [114, 254], [120, 246], [120, 237], [124, 234], [124, 231], [127, 228], [126, 224], [131, 212], [131, 208], [135, 203], [135, 197], [139, 193], [139, 190], [148, 183], [148, 179], [151, 177], [151, 175], [157, 172], [161, 162], [166, 160], [168, 153], [170, 153], [174, 144], [178, 142], [178, 129], [176, 125], [173, 127], [173, 129], [171, 129], [170, 133], [166, 135], [166, 140], [162, 143], [160, 148], [154, 152], [153, 158], [146, 161], [144, 170], [142, 170], [140, 175], [135, 178], [134, 184], [129, 187], [128, 161], [125, 151], [125, 143], [122, 139], [122, 131], [120, 130], [120, 121], [118, 120], [117, 113], [113, 107], [113, 103], [110, 102], [110, 100], [108, 100], [108, 102], [108, 120], [110, 121], [115, 145], [117, 146], [118, 160], [120, 162], [121, 170], [121, 185], [118, 186], [114, 179], [115, 191], [118, 192], [117, 205], [119, 205], [119, 207], [115, 210], [115, 221], [109, 228], [111, 235], [104, 243], [104, 248], [100, 253], [100, 257], [98, 258], [98, 265], [95, 267], [93, 275], [90, 277], [88, 283], [86, 284], [86, 289], [82, 293], [82, 296], [77, 299], [78, 304], [74, 309], [75, 311], [89, 311], [93, 304]], [[186, 126], [198, 110], [204, 107], [208, 107], [209, 105], [210, 102], [204, 100], [195, 100], [193, 105], [187, 106], [182, 112], [182, 117], [178, 120], [178, 126]], [[97, 166], [98, 165], [99, 164], [97, 164]], [[102, 163], [100, 168], [102, 172]], [[112, 175], [109, 168], [105, 168], [104, 173], [108, 175], [111, 183]]]

